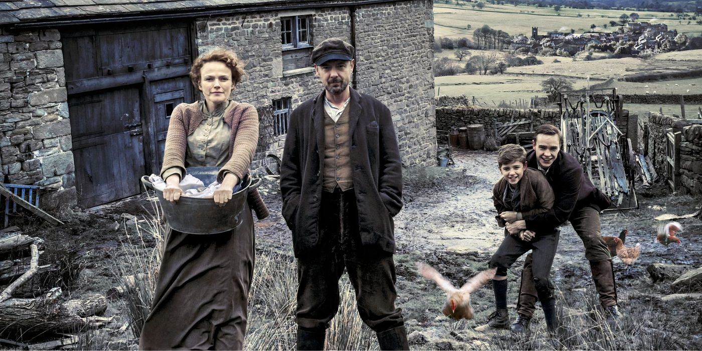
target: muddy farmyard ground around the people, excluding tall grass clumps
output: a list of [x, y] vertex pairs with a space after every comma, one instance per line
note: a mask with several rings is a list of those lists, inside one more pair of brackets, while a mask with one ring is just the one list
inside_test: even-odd
[[[512, 344], [508, 336], [484, 335], [472, 330], [483, 324], [494, 308], [489, 286], [473, 296], [475, 319], [453, 322], [439, 311], [444, 300], [442, 291], [416, 273], [416, 261], [424, 260], [453, 284], [463, 284], [484, 269], [489, 255], [496, 250], [503, 237], [495, 223], [490, 199], [492, 184], [500, 176], [496, 168], [496, 153], [459, 152], [453, 155], [453, 159], [456, 165], [451, 168], [406, 171], [405, 205], [395, 217], [397, 304], [404, 311], [408, 331], [418, 332], [413, 334], [412, 347], [421, 350], [539, 348], [538, 344]], [[269, 180], [263, 189], [272, 215], [256, 223], [257, 248], [259, 251], [266, 249], [291, 253], [290, 233], [280, 216], [277, 183]], [[602, 232], [616, 235], [627, 228], [630, 232], [627, 246], [641, 244], [641, 257], [628, 272], [625, 272], [625, 266], [618, 258], [614, 259], [621, 309], [627, 316], [632, 316], [627, 317], [632, 323], [640, 323], [643, 319], [651, 329], [669, 330], [663, 338], [673, 341], [649, 347], [625, 343], [624, 340], [610, 345], [622, 349], [702, 349], [701, 301], [661, 302], [661, 296], [686, 291], [673, 291], [670, 282], [654, 284], [646, 271], [651, 263], [702, 266], [700, 220], [680, 220], [684, 226], [681, 234], [683, 244], [665, 247], [654, 243], [656, 227], [661, 222], [653, 219], [663, 213], [692, 213], [700, 207], [701, 199], [669, 194], [663, 185], [649, 189], [639, 186], [637, 194], [640, 208], [607, 211], [602, 216]], [[124, 253], [123, 243], [127, 238], [134, 240], [139, 237], [135, 233], [135, 220], [145, 226], [145, 218], [150, 218], [152, 213], [152, 204], [143, 194], [100, 208], [66, 214], [62, 218], [66, 222], [63, 227], [49, 227], [29, 217], [18, 218], [15, 224], [27, 234], [32, 233], [46, 241], [47, 249], [42, 259], [58, 261], [61, 266], [49, 284], [62, 285], [66, 296], [76, 298], [105, 293], [111, 286], [119, 284], [118, 267], [129, 259]], [[137, 217], [130, 220], [131, 216]], [[147, 230], [142, 234], [146, 246], [144, 250], [149, 250], [156, 240]], [[516, 301], [516, 282], [522, 263], [523, 258], [510, 270], [510, 303]], [[581, 310], [596, 308], [593, 307], [597, 303], [583, 245], [568, 225], [562, 228], [553, 267], [553, 277], [559, 289], [559, 304]], [[510, 305], [512, 319], [516, 317], [514, 307]], [[134, 349], [137, 341], [131, 332], [128, 329], [123, 332], [117, 330], [127, 320], [124, 310], [124, 300], [110, 301], [106, 315], [114, 316], [114, 322], [102, 332], [100, 343], [88, 343], [83, 347]], [[543, 326], [539, 313], [535, 322]], [[598, 347], [580, 345], [574, 348]]]

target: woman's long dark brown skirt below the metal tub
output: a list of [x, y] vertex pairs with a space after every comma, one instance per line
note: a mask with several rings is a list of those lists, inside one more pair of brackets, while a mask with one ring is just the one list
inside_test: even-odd
[[249, 205], [234, 230], [170, 230], [140, 350], [241, 350], [255, 260]]

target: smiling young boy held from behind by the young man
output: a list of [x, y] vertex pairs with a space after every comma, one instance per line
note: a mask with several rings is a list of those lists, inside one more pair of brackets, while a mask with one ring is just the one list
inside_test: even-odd
[[[505, 223], [550, 210], [554, 201], [553, 191], [540, 171], [527, 168], [527, 151], [524, 147], [515, 144], [503, 145], [498, 151], [497, 163], [502, 178], [493, 188], [493, 201], [500, 227], [505, 227]], [[497, 268], [492, 280], [497, 310], [490, 315], [486, 326], [476, 330], [484, 331], [489, 327], [510, 329], [510, 317], [507, 312], [507, 270], [519, 256], [533, 250], [534, 284], [538, 299], [546, 317], [546, 326], [549, 331], [555, 331], [557, 322], [550, 270], [558, 246], [558, 237], [559, 230], [556, 227], [546, 228], [538, 233], [522, 230], [519, 235], [510, 235], [505, 230], [505, 239], [488, 263], [490, 268]]]

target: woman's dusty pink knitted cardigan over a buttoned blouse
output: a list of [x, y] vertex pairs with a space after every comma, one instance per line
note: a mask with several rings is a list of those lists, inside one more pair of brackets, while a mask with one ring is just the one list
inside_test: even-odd
[[[249, 174], [249, 166], [253, 160], [253, 153], [258, 145], [258, 112], [256, 107], [247, 103], [232, 102], [235, 105], [224, 116], [226, 124], [232, 128], [228, 157], [229, 161], [217, 174], [217, 181], [222, 182], [225, 171], [234, 173], [239, 180]], [[200, 111], [199, 102], [192, 104], [182, 103], [173, 110], [171, 121], [168, 124], [166, 135], [166, 150], [164, 151], [164, 164], [161, 166], [161, 176], [171, 167], [181, 168], [185, 175], [185, 151], [187, 150], [187, 136], [204, 120]], [[234, 150], [237, 150], [234, 152]], [[258, 190], [249, 191], [249, 204], [258, 219], [268, 215], [268, 210], [261, 199]]]

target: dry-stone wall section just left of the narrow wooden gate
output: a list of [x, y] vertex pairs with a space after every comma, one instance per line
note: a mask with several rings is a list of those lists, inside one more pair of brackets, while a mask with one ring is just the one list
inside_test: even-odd
[[673, 131], [682, 131], [682, 128], [689, 126], [689, 121], [685, 119], [675, 118], [651, 112], [649, 116], [649, 138], [648, 138], [648, 156], [651, 162], [654, 163], [654, 168], [658, 177], [665, 181], [668, 179], [665, 169], [665, 137], [666, 129], [673, 128]]

